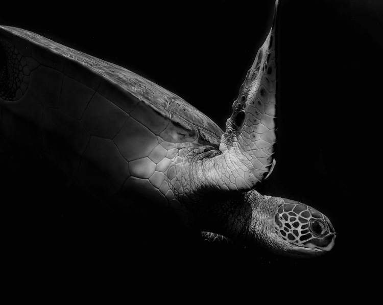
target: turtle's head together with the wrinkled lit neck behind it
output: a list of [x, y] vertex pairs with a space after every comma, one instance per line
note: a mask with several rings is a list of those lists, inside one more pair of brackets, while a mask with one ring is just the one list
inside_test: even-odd
[[330, 220], [307, 204], [254, 190], [245, 195], [245, 202], [252, 206], [250, 239], [276, 254], [317, 257], [334, 246]]

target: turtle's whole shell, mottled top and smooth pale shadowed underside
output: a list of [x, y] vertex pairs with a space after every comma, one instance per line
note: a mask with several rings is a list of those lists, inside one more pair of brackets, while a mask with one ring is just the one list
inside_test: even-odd
[[168, 206], [169, 160], [219, 146], [223, 131], [206, 115], [121, 66], [13, 27], [0, 27], [0, 43], [3, 134], [101, 200], [140, 190]]

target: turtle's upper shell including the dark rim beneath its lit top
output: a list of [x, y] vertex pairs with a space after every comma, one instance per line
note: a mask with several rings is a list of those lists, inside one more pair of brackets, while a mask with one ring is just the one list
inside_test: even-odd
[[133, 110], [145, 112], [145, 115], [137, 116], [141, 124], [149, 127], [161, 121], [170, 121], [172, 124], [162, 131], [166, 140], [215, 147], [219, 145], [224, 133], [222, 129], [173, 92], [124, 67], [68, 48], [36, 33], [13, 27], [2, 26], [0, 29], [4, 37], [21, 44], [20, 52], [23, 49], [32, 50], [32, 57], [41, 64], [64, 69], [65, 75], [93, 89], [101, 81], [97, 91], [102, 90], [106, 95], [104, 97], [115, 106], [132, 117], [135, 114]]

